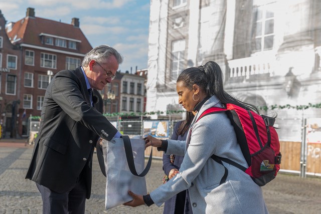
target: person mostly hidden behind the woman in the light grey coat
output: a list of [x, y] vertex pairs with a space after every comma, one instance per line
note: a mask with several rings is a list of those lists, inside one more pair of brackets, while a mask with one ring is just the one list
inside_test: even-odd
[[[181, 120], [175, 124], [172, 140], [186, 140], [187, 132], [190, 128], [194, 114], [186, 112], [185, 120]], [[177, 173], [179, 173], [181, 164], [183, 162], [183, 155], [175, 154], [163, 154], [163, 170], [167, 175], [167, 180], [172, 179]], [[165, 201], [164, 214], [191, 214], [192, 206], [188, 190], [183, 190], [177, 195]]]

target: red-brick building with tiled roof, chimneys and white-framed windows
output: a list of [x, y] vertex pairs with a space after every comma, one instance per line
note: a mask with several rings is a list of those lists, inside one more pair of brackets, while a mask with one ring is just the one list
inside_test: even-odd
[[[71, 24], [61, 23], [36, 17], [35, 10], [28, 8], [26, 17], [16, 23], [8, 23], [7, 36], [3, 16], [0, 22], [0, 35], [7, 47], [1, 53], [7, 52], [11, 61], [16, 59], [15, 63], [10, 61], [8, 65], [2, 64], [3, 68], [16, 64], [15, 68], [10, 67], [7, 78], [1, 80], [3, 120], [7, 121], [6, 124], [8, 121], [17, 124], [12, 126], [17, 131], [6, 127], [6, 137], [9, 137], [9, 131], [11, 137], [17, 134], [24, 136], [28, 135], [29, 116], [40, 116], [50, 79], [61, 70], [80, 66], [92, 46], [82, 33], [77, 18], [73, 18]], [[6, 62], [6, 59], [2, 61]], [[12, 94], [5, 91], [8, 84], [12, 85]]]

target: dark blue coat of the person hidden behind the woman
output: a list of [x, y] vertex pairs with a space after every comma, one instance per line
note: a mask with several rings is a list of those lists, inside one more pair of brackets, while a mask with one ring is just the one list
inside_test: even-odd
[[[178, 128], [182, 121], [179, 121], [176, 123], [174, 127], [174, 132], [171, 137], [173, 140], [186, 140], [187, 132], [184, 133], [184, 135], [179, 135]], [[184, 156], [176, 155], [174, 160], [174, 165], [171, 164], [170, 155], [163, 154], [163, 169], [166, 175], [168, 175], [173, 168], [180, 169], [181, 164], [183, 162]], [[184, 190], [180, 192], [179, 194], [175, 195], [174, 197], [170, 198], [169, 200], [165, 201], [164, 205], [164, 214], [174, 214], [175, 213], [175, 205], [176, 203], [179, 204], [179, 201], [184, 201], [185, 205], [182, 206], [182, 204], [178, 205], [177, 212], [176, 213], [185, 213], [185, 214], [191, 214], [193, 213], [191, 202], [190, 202], [190, 196], [188, 194], [188, 190]], [[184, 202], [183, 202], [184, 203]], [[184, 212], [183, 212], [184, 211]]]

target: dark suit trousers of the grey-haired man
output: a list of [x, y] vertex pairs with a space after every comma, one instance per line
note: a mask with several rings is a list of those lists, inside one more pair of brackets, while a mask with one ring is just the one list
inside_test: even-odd
[[86, 184], [83, 178], [78, 180], [71, 190], [62, 193], [38, 183], [36, 185], [41, 193], [44, 214], [85, 213]]

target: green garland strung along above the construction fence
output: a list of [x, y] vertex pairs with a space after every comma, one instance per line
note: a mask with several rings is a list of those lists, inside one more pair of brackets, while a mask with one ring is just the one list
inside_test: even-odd
[[[296, 109], [296, 110], [305, 110], [308, 108], [321, 108], [321, 103], [317, 104], [311, 104], [308, 103], [308, 105], [271, 105], [270, 107], [268, 106], [258, 106], [259, 110], [275, 110], [275, 109]], [[103, 114], [105, 117], [116, 117], [116, 116], [146, 116], [146, 115], [160, 115], [166, 113], [166, 115], [169, 114], [178, 114], [178, 113], [183, 113], [185, 110], [171, 110], [171, 111], [151, 111], [151, 112], [130, 112], [130, 113], [123, 113], [123, 112], [117, 112], [117, 113], [105, 113]], [[40, 116], [32, 116], [32, 120], [40, 120]]]

